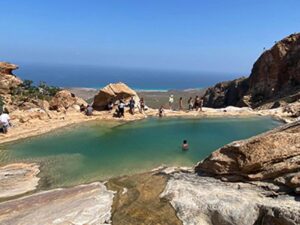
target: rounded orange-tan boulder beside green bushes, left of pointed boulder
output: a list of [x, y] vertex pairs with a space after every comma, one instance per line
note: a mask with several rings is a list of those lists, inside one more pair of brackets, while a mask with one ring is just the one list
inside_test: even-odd
[[57, 92], [56, 95], [51, 99], [49, 102], [49, 108], [50, 110], [64, 112], [71, 107], [79, 110], [81, 104], [87, 106], [86, 101], [83, 99], [76, 97], [70, 91], [62, 90]]

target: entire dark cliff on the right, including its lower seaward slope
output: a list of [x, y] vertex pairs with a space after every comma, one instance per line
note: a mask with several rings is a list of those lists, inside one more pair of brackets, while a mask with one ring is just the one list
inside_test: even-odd
[[209, 88], [204, 95], [204, 105], [256, 107], [299, 91], [300, 33], [297, 33], [265, 51], [254, 63], [249, 78], [222, 82]]

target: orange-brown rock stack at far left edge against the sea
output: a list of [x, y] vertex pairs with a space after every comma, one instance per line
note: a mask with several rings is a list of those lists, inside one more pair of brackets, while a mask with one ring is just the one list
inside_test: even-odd
[[22, 81], [12, 71], [18, 69], [15, 64], [0, 62], [0, 95], [9, 95], [13, 88], [19, 86]]

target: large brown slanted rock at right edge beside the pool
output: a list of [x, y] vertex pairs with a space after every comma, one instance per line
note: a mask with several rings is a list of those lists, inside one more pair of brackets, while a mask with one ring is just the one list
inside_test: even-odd
[[[233, 142], [213, 152], [195, 170], [227, 180], [275, 182], [280, 176], [300, 172], [299, 134], [300, 121], [296, 121], [262, 135]], [[300, 187], [296, 182], [294, 184], [294, 189]]]

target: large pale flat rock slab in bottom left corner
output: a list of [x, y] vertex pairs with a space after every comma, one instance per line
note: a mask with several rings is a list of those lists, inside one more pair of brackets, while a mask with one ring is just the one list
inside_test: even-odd
[[110, 224], [112, 201], [102, 183], [44, 191], [0, 203], [0, 224]]

